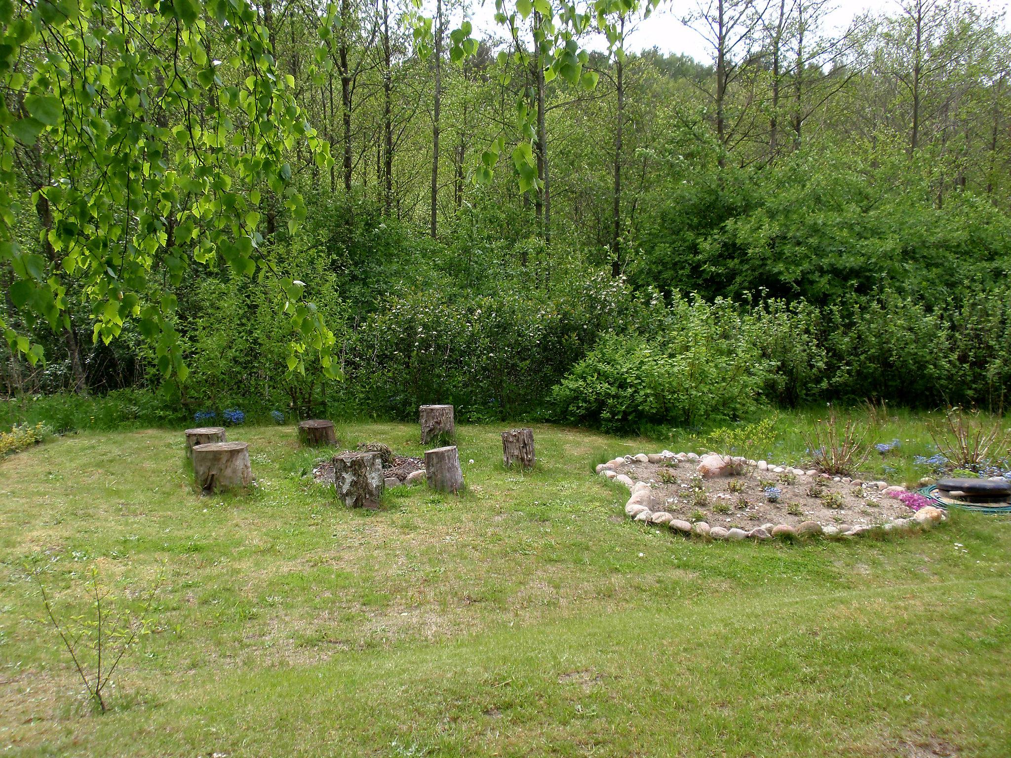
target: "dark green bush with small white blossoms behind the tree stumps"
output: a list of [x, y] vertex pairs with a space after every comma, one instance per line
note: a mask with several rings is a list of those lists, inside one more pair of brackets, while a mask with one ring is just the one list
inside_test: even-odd
[[461, 418], [539, 413], [551, 387], [612, 329], [635, 329], [643, 307], [596, 275], [548, 295], [521, 286], [461, 300], [401, 293], [344, 344], [346, 406], [410, 417], [448, 402]]

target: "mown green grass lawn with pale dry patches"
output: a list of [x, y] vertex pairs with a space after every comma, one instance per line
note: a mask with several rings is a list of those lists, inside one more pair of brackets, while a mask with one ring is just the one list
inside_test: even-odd
[[[523, 476], [501, 468], [502, 429], [460, 429], [465, 495], [401, 488], [372, 512], [305, 476], [314, 455], [290, 428], [229, 431], [251, 443], [247, 496], [195, 494], [179, 431], [71, 435], [0, 460], [0, 751], [1011, 754], [1008, 520], [687, 541], [625, 518], [627, 490], [591, 471], [675, 441], [537, 427], [540, 468]], [[411, 424], [340, 432], [422, 451]], [[104, 715], [26, 569], [44, 567], [70, 615], [96, 563], [121, 595], [163, 577], [155, 631]]]

